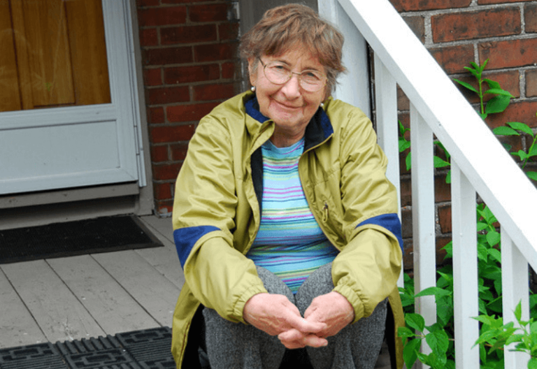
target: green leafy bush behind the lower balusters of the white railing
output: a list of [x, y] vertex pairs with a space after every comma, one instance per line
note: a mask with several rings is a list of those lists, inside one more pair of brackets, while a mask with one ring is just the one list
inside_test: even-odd
[[[485, 204], [476, 205], [478, 227], [478, 288], [479, 310], [484, 315], [501, 314], [501, 253], [499, 232], [496, 231], [496, 217]], [[415, 294], [412, 278], [405, 275], [405, 287], [399, 288], [406, 327], [399, 329], [399, 337], [405, 341], [403, 359], [407, 368], [420, 360], [431, 368], [454, 368], [454, 314], [453, 314], [453, 268], [450, 263], [452, 243], [443, 250], [447, 264], [438, 268], [436, 287], [429, 287]], [[413, 304], [420, 296], [434, 296], [436, 301], [436, 323], [424, 326], [419, 314], [415, 314]], [[429, 337], [429, 338], [428, 338]], [[445, 345], [447, 338], [447, 345]], [[422, 340], [431, 348], [431, 354], [419, 352]], [[437, 341], [441, 341], [438, 342]], [[432, 342], [432, 344], [430, 343]], [[491, 352], [487, 363], [503, 365], [503, 352]], [[486, 368], [486, 367], [484, 367]], [[492, 366], [490, 368], [493, 368]]]

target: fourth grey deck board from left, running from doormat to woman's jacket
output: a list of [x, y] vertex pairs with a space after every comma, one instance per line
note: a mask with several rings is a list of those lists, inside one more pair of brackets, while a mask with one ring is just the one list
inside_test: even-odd
[[153, 319], [162, 326], [171, 326], [179, 287], [134, 251], [94, 254], [94, 258]]

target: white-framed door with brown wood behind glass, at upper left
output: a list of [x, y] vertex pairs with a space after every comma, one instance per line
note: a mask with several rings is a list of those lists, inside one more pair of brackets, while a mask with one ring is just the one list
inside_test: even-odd
[[138, 180], [129, 0], [0, 1], [0, 194]]

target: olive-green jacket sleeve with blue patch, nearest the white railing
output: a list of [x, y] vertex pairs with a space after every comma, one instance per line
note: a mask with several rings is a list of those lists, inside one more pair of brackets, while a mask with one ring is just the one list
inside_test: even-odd
[[387, 159], [371, 121], [354, 110], [341, 133], [343, 232], [348, 244], [334, 259], [334, 291], [355, 308], [355, 321], [368, 317], [394, 291], [401, 270], [401, 223]]

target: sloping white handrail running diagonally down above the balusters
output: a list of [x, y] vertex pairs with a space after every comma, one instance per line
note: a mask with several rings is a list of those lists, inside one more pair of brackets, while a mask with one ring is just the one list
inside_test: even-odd
[[[387, 0], [338, 0], [420, 115], [537, 269], [537, 190]], [[502, 168], [499, 171], [498, 168]]]

